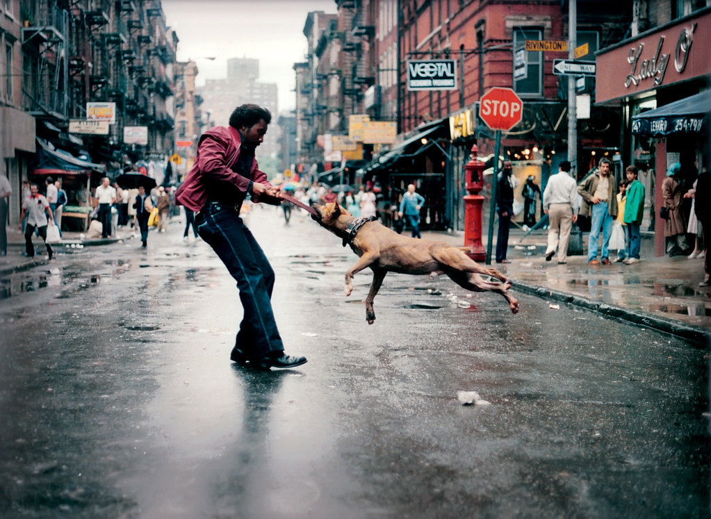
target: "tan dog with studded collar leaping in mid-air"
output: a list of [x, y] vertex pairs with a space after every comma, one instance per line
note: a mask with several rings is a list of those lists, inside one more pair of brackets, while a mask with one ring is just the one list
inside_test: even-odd
[[[355, 218], [336, 203], [314, 204], [313, 207], [321, 218], [312, 218], [343, 238], [344, 245], [350, 243], [353, 252], [360, 256], [360, 260], [346, 272], [346, 296], [350, 296], [353, 291], [354, 274], [367, 267], [373, 270], [373, 283], [365, 299], [365, 319], [368, 324], [375, 321], [373, 299], [387, 272], [429, 274], [432, 279], [439, 274], [447, 274], [452, 281], [467, 290], [491, 290], [501, 294], [508, 301], [511, 311], [514, 314], [518, 312], [518, 301], [508, 294], [511, 287], [509, 279], [498, 270], [482, 267], [471, 260], [463, 252], [467, 250], [466, 247], [451, 247], [442, 242], [402, 236], [374, 221], [362, 223], [363, 219]], [[355, 226], [359, 223], [360, 226]], [[501, 283], [485, 281], [479, 274], [499, 279]]]

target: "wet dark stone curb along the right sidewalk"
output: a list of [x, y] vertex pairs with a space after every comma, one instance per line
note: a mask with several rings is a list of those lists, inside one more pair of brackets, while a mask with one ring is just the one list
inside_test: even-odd
[[609, 319], [619, 319], [620, 321], [628, 321], [630, 323], [646, 326], [656, 331], [669, 333], [670, 335], [680, 337], [686, 341], [694, 343], [694, 346], [708, 348], [711, 343], [711, 332], [699, 326], [691, 326], [690, 324], [680, 323], [672, 319], [653, 316], [645, 312], [629, 310], [621, 306], [614, 306], [600, 301], [593, 301], [582, 296], [568, 294], [567, 292], [547, 289], [537, 285], [512, 282], [513, 288], [525, 294], [538, 296], [542, 299], [553, 299], [562, 303], [580, 306], [584, 309], [597, 312]]

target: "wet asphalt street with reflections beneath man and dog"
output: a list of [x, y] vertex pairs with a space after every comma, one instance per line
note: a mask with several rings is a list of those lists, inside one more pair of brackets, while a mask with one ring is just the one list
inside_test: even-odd
[[247, 222], [295, 370], [230, 363], [235, 283], [175, 220], [3, 280], [1, 516], [708, 516], [707, 351], [446, 277], [389, 274], [368, 326], [337, 237]]

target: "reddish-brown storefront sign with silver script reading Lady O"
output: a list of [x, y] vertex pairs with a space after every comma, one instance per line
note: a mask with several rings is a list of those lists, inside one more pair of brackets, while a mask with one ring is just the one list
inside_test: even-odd
[[634, 96], [709, 73], [711, 12], [685, 18], [597, 55], [596, 102]]

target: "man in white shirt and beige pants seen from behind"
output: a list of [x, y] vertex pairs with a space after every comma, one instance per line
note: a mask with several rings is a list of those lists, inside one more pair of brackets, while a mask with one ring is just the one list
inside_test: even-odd
[[570, 240], [570, 228], [577, 221], [579, 195], [577, 184], [570, 176], [570, 162], [562, 161], [558, 173], [548, 179], [543, 191], [543, 211], [548, 215], [548, 246], [545, 260], [550, 262], [558, 250], [558, 263], [565, 263]]

